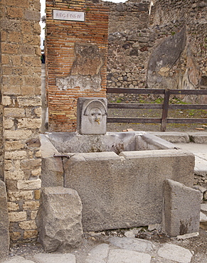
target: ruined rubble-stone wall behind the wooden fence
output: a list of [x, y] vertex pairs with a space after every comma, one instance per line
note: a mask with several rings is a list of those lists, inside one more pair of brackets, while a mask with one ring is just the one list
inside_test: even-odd
[[[197, 88], [206, 82], [206, 2], [110, 7], [107, 87]], [[130, 19], [131, 18], [131, 19]]]

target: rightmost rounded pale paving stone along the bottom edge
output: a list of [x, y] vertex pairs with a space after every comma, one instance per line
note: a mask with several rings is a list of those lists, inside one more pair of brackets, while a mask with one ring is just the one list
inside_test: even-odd
[[179, 263], [190, 263], [193, 254], [189, 249], [177, 245], [165, 244], [158, 250], [159, 257], [174, 260]]

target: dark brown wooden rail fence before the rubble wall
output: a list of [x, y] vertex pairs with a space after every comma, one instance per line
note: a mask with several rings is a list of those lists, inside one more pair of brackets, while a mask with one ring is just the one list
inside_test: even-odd
[[163, 104], [143, 103], [108, 103], [110, 109], [162, 109], [161, 118], [107, 118], [107, 122], [120, 123], [160, 123], [161, 131], [166, 130], [167, 123], [206, 123], [206, 118], [168, 118], [169, 109], [207, 109], [207, 104], [169, 104], [170, 95], [207, 95], [207, 90], [161, 90], [161, 89], [126, 89], [107, 88], [107, 93], [155, 94], [164, 95]]

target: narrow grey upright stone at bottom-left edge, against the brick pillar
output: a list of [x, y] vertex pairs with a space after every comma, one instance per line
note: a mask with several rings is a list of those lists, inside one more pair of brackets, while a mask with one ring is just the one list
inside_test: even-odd
[[7, 208], [6, 186], [0, 180], [0, 259], [9, 254], [9, 214]]

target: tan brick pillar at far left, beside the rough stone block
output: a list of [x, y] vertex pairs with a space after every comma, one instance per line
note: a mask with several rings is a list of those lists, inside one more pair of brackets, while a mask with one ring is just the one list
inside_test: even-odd
[[4, 181], [11, 240], [36, 238], [41, 189], [39, 0], [1, 0]]

